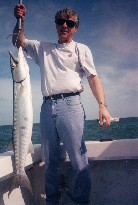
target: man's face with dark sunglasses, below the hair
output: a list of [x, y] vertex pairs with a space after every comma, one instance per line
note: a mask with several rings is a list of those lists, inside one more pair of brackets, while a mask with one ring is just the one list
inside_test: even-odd
[[75, 24], [74, 18], [70, 17], [69, 19], [60, 18], [59, 22], [56, 22], [56, 29], [59, 37], [59, 43], [69, 43], [74, 33], [78, 30], [78, 27]]

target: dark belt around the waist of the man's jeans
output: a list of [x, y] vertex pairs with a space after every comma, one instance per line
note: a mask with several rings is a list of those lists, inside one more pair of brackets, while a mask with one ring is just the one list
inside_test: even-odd
[[61, 93], [61, 94], [56, 94], [56, 95], [50, 95], [50, 96], [44, 96], [43, 100], [57, 100], [57, 99], [61, 99], [61, 98], [66, 98], [69, 96], [75, 96], [75, 95], [79, 95], [80, 92], [76, 92], [76, 93]]

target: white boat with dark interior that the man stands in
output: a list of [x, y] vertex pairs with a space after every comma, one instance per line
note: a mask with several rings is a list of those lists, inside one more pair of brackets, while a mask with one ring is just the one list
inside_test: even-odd
[[[138, 139], [86, 141], [86, 147], [92, 181], [90, 205], [138, 205]], [[61, 176], [71, 188], [73, 170], [62, 143], [60, 150]], [[40, 144], [34, 145], [34, 153], [27, 155], [26, 173], [33, 187], [34, 204], [45, 205]], [[12, 176], [13, 152], [8, 151], [0, 154], [0, 205], [28, 205], [20, 188], [8, 198]], [[61, 192], [60, 204], [73, 205], [62, 184]]]

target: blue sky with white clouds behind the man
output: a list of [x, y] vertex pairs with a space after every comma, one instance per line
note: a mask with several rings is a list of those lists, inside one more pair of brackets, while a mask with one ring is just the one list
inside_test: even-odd
[[[13, 88], [8, 51], [17, 54], [11, 42], [16, 24], [15, 0], [0, 5], [0, 125], [13, 119]], [[28, 39], [57, 42], [54, 16], [70, 7], [80, 17], [74, 41], [87, 45], [102, 81], [108, 109], [113, 117], [138, 117], [138, 0], [23, 0], [27, 8], [25, 35]], [[30, 67], [34, 123], [39, 123], [42, 103], [39, 67]], [[82, 102], [86, 119], [98, 118], [98, 104], [83, 78]]]

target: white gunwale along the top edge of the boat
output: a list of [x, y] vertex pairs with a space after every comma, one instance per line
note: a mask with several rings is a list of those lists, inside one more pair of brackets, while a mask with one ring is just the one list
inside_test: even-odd
[[[138, 159], [138, 139], [86, 141], [89, 160]], [[34, 153], [28, 153], [26, 169], [42, 161], [41, 145], [34, 145]], [[61, 158], [69, 161], [69, 157], [61, 143]], [[0, 181], [13, 175], [13, 151], [0, 154]]]

